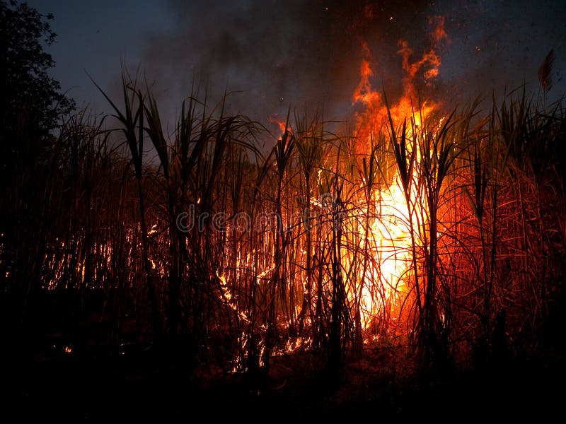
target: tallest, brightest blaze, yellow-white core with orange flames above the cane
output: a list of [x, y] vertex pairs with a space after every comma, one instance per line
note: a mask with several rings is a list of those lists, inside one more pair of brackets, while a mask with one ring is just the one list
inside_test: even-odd
[[[359, 138], [365, 146], [370, 146], [371, 134], [381, 130], [389, 130], [388, 112], [391, 113], [394, 125], [399, 125], [407, 119], [408, 146], [415, 143], [414, 129], [422, 125], [429, 114], [437, 110], [438, 105], [432, 101], [421, 101], [417, 96], [417, 80], [429, 84], [439, 75], [441, 57], [435, 47], [446, 38], [444, 18], [436, 17], [431, 20], [435, 25], [432, 32], [432, 47], [422, 54], [422, 57], [412, 61], [413, 50], [408, 42], [399, 40], [398, 54], [402, 57], [403, 93], [397, 102], [389, 104], [389, 110], [383, 95], [374, 90], [371, 78], [374, 63], [371, 51], [362, 44], [364, 58], [360, 65], [359, 83], [354, 89], [352, 103], [361, 105], [362, 111], [357, 113], [357, 128]], [[416, 169], [413, 169], [413, 174]], [[415, 177], [415, 175], [413, 175]], [[413, 189], [414, 190], [414, 189]], [[411, 193], [412, 199], [417, 194]], [[405, 193], [400, 184], [397, 172], [394, 173], [388, 187], [376, 189], [371, 202], [377, 211], [377, 218], [369, 223], [371, 230], [371, 251], [373, 261], [362, 276], [362, 295], [360, 312], [362, 329], [368, 330], [370, 324], [379, 313], [389, 314], [393, 319], [400, 314], [400, 305], [408, 294], [405, 281], [408, 281], [410, 271], [412, 237], [410, 232], [410, 213], [408, 211]], [[417, 202], [418, 203], [418, 202]], [[353, 295], [353, 293], [352, 293]]]

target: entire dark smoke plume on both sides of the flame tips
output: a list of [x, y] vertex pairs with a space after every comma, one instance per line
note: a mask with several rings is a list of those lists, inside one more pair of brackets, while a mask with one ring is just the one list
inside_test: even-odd
[[[439, 76], [418, 88], [447, 100], [490, 96], [493, 89], [536, 81], [554, 48], [564, 63], [565, 6], [526, 1], [169, 0], [173, 25], [148, 32], [141, 47], [145, 78], [175, 116], [192, 87], [209, 102], [226, 91], [231, 112], [267, 123], [289, 105], [324, 108], [329, 119], [352, 116], [364, 43], [374, 63], [374, 88], [402, 93], [399, 40], [414, 59], [438, 41], [431, 18], [444, 16], [448, 38], [437, 43]], [[525, 14], [526, 12], [526, 14]], [[434, 21], [434, 19], [432, 19]], [[533, 78], [531, 78], [533, 77]], [[559, 81], [560, 75], [554, 80]], [[532, 86], [531, 88], [536, 88]]]

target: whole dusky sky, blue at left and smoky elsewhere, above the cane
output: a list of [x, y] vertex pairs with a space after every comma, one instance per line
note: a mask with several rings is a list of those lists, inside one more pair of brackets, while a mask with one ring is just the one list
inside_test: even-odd
[[[429, 90], [448, 102], [490, 98], [526, 81], [540, 93], [538, 66], [554, 49], [555, 86], [566, 93], [566, 2], [541, 1], [29, 1], [54, 13], [59, 35], [50, 52], [52, 75], [79, 105], [110, 108], [88, 73], [117, 93], [120, 61], [139, 65], [171, 120], [196, 81], [208, 83], [212, 100], [228, 90], [234, 112], [262, 122], [293, 105], [320, 107], [332, 119], [352, 113], [364, 40], [381, 81], [395, 93], [403, 77], [397, 42], [415, 57], [429, 46], [429, 17], [444, 16], [439, 77]], [[436, 93], [434, 93], [436, 92]], [[114, 94], [115, 95], [115, 94]]]

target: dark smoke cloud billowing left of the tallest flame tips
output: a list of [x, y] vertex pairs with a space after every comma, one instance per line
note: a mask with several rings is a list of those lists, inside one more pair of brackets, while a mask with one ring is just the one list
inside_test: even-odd
[[[420, 1], [180, 1], [168, 7], [172, 28], [146, 37], [142, 66], [161, 98], [180, 100], [193, 83], [218, 101], [225, 90], [233, 112], [284, 119], [289, 105], [322, 109], [342, 119], [352, 107], [362, 43], [380, 74], [400, 81], [398, 39], [427, 26]], [[418, 44], [418, 43], [417, 43]], [[377, 80], [376, 80], [377, 81]], [[391, 81], [389, 81], [391, 82]]]

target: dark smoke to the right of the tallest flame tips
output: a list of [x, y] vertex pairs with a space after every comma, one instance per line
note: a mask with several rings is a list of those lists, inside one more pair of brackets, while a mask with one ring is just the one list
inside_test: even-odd
[[439, 1], [434, 12], [446, 16], [451, 38], [441, 66], [442, 98], [466, 102], [495, 93], [502, 100], [522, 86], [536, 97], [541, 94], [538, 68], [551, 49], [557, 54], [552, 78], [558, 83], [547, 101], [565, 95], [564, 2]]

